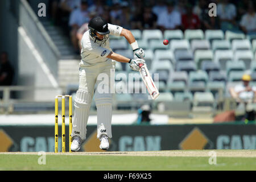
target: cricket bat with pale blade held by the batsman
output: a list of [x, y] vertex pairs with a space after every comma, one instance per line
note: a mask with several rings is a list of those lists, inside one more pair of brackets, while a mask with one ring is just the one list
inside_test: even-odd
[[159, 96], [158, 88], [156, 88], [155, 83], [150, 76], [150, 72], [148, 72], [147, 66], [139, 64], [139, 67], [139, 72], [141, 73], [142, 80], [146, 85], [147, 91], [150, 94], [152, 100], [155, 100]]

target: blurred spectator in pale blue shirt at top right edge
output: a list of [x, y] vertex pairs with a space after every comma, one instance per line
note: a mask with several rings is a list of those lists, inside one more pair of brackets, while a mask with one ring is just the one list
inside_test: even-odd
[[256, 32], [256, 14], [252, 2], [248, 5], [247, 13], [242, 16], [240, 26], [245, 34]]

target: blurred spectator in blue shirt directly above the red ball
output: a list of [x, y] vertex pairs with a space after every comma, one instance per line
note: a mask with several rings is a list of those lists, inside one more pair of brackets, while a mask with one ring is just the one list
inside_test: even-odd
[[181, 15], [179, 11], [174, 10], [174, 2], [167, 3], [167, 11], [163, 11], [158, 16], [157, 25], [159, 26], [159, 29], [162, 31], [180, 28]]

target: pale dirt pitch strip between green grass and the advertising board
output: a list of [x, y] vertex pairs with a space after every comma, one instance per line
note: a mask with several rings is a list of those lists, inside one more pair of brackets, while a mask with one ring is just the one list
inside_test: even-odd
[[[217, 157], [256, 158], [256, 150], [172, 150], [172, 151], [133, 151], [133, 152], [46, 152], [46, 155], [82, 155], [82, 156], [170, 156], [170, 157], [208, 157], [209, 152], [216, 152]], [[38, 152], [0, 152], [13, 155], [38, 155]]]

